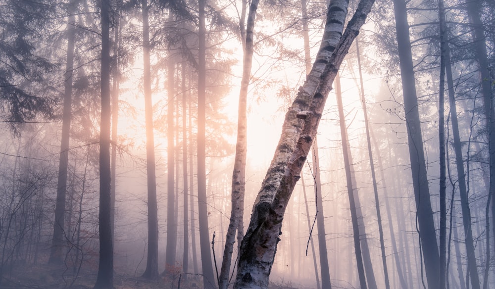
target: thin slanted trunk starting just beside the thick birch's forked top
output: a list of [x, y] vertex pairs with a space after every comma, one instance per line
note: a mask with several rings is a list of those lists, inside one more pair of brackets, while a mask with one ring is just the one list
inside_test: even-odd
[[[383, 263], [385, 288], [390, 289], [389, 271], [387, 269], [387, 254], [385, 252], [385, 241], [383, 238], [382, 214], [380, 212], [380, 200], [378, 198], [378, 187], [376, 184], [375, 164], [373, 162], [373, 151], [371, 150], [368, 111], [366, 109], [366, 99], [364, 98], [363, 76], [362, 76], [362, 72], [361, 72], [361, 56], [359, 54], [359, 41], [357, 39], [356, 39], [356, 53], [357, 53], [357, 65], [358, 65], [358, 69], [359, 69], [359, 82], [360, 82], [360, 87], [361, 87], [361, 104], [362, 104], [363, 113], [364, 113], [364, 126], [366, 128], [366, 142], [368, 144], [368, 155], [369, 155], [369, 159], [370, 159], [371, 179], [373, 181], [373, 193], [375, 196], [375, 208], [376, 208], [376, 216], [377, 216], [377, 224], [378, 224], [378, 233], [380, 236], [380, 249], [382, 252], [382, 263]], [[373, 273], [373, 272], [371, 272], [371, 273]], [[373, 275], [373, 278], [374, 278], [374, 275]], [[370, 277], [368, 277], [368, 283], [370, 283]], [[376, 283], [374, 285], [376, 288]], [[372, 287], [370, 286], [370, 289], [371, 288]]]

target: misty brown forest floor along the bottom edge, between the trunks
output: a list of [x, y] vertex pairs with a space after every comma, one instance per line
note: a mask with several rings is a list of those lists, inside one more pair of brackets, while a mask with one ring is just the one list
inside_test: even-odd
[[[96, 274], [79, 272], [76, 280], [72, 270], [65, 266], [47, 264], [16, 266], [11, 272], [4, 274], [0, 289], [92, 289]], [[179, 283], [180, 282], [180, 283]], [[187, 278], [181, 275], [162, 276], [157, 281], [149, 281], [129, 275], [114, 275], [115, 289], [201, 289], [200, 275], [188, 274]], [[269, 289], [298, 289], [282, 284], [272, 284]]]

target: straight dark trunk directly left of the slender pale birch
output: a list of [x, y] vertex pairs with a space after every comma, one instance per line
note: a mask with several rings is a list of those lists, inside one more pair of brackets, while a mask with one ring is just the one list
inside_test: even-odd
[[198, 0], [198, 216], [199, 249], [201, 250], [201, 267], [203, 269], [204, 289], [214, 289], [215, 278], [211, 263], [210, 241], [208, 233], [208, 212], [206, 202], [206, 0]]

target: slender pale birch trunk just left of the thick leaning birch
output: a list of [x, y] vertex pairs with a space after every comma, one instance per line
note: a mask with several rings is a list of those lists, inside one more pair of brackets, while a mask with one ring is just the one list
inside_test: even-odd
[[[243, 5], [245, 5], [244, 3]], [[230, 264], [232, 261], [232, 252], [236, 230], [243, 223], [244, 216], [244, 193], [246, 185], [246, 155], [247, 155], [247, 88], [251, 79], [251, 66], [253, 54], [253, 34], [254, 20], [256, 18], [256, 9], [258, 0], [252, 0], [249, 5], [247, 15], [246, 39], [244, 41], [244, 61], [243, 77], [241, 80], [241, 91], [239, 92], [239, 116], [237, 120], [237, 143], [236, 156], [234, 159], [234, 172], [232, 173], [232, 211], [230, 213], [229, 227], [227, 229], [225, 248], [223, 252], [222, 267], [220, 269], [219, 285], [220, 289], [227, 289], [229, 286]], [[243, 10], [245, 10], [243, 8]], [[241, 17], [241, 27], [244, 27], [244, 17]], [[244, 29], [241, 29], [241, 31]], [[238, 243], [242, 242], [243, 228], [238, 232]]]

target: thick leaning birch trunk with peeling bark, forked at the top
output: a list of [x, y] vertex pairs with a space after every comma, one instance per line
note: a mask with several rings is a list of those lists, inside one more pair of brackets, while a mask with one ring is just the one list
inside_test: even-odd
[[253, 205], [241, 244], [236, 289], [268, 287], [285, 209], [316, 136], [331, 83], [372, 5], [373, 0], [361, 0], [342, 34], [347, 1], [330, 1], [320, 51], [286, 114], [277, 150]]

